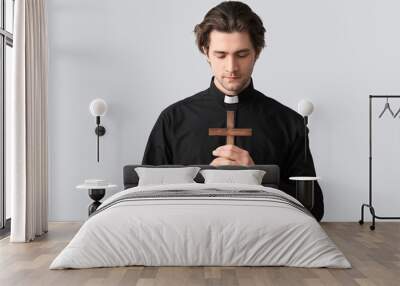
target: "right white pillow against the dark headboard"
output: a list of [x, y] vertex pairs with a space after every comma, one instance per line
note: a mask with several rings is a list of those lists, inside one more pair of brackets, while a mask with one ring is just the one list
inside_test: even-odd
[[261, 185], [265, 171], [262, 170], [202, 170], [204, 183], [234, 183]]

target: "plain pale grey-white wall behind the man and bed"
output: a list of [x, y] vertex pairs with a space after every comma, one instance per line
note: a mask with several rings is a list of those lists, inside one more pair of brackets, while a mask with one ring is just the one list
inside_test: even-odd
[[[192, 31], [218, 3], [48, 1], [50, 220], [84, 220], [90, 199], [75, 186], [85, 178], [122, 186], [122, 167], [141, 162], [160, 111], [208, 87], [211, 73]], [[267, 29], [255, 87], [294, 109], [302, 98], [314, 102], [310, 144], [324, 219], [358, 220], [368, 198], [368, 95], [400, 94], [400, 2], [246, 3]], [[97, 97], [109, 104], [100, 163], [88, 110]], [[377, 102], [375, 117], [383, 104]], [[374, 121], [379, 215], [399, 215], [399, 125]]]

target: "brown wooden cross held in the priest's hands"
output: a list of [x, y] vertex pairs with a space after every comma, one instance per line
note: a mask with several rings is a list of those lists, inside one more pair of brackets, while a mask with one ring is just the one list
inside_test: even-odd
[[235, 136], [251, 136], [251, 128], [235, 128], [235, 111], [226, 112], [226, 128], [209, 128], [209, 136], [226, 136], [226, 144], [234, 145]]

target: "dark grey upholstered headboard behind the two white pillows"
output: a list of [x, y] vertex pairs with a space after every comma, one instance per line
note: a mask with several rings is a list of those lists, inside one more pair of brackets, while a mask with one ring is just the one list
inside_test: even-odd
[[[210, 165], [188, 165], [200, 167], [202, 170], [204, 169], [220, 169], [220, 170], [264, 170], [266, 173], [262, 180], [262, 185], [265, 187], [278, 188], [279, 186], [279, 166], [278, 165], [255, 165], [251, 167], [245, 166], [219, 166], [214, 167]], [[138, 185], [139, 177], [135, 172], [136, 167], [148, 167], [148, 168], [176, 168], [176, 167], [185, 167], [183, 165], [160, 165], [160, 166], [151, 166], [151, 165], [126, 165], [124, 167], [124, 189], [133, 188]], [[197, 183], [204, 183], [204, 178], [200, 174], [197, 174], [194, 180]]]

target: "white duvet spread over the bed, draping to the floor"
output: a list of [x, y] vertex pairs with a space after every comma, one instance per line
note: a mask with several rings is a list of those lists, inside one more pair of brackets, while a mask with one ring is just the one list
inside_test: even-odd
[[[239, 184], [141, 186], [119, 192], [277, 189]], [[298, 203], [298, 202], [297, 202]], [[319, 223], [299, 209], [246, 198], [122, 201], [90, 217], [50, 269], [146, 266], [294, 266], [350, 268]]]

